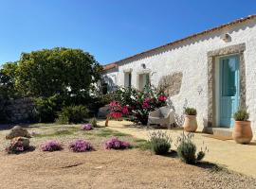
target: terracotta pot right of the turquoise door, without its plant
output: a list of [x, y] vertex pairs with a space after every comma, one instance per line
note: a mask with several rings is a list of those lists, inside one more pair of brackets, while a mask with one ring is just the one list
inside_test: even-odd
[[235, 121], [232, 137], [236, 143], [249, 144], [253, 137], [250, 121]]

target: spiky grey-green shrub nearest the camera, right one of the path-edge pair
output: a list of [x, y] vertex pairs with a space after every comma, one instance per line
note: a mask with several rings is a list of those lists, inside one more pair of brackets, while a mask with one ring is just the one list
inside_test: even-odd
[[196, 153], [196, 146], [193, 143], [193, 134], [188, 133], [185, 135], [183, 132], [181, 136], [177, 138], [177, 155], [182, 162], [188, 164], [195, 164], [205, 157], [207, 147], [205, 150], [201, 150]]

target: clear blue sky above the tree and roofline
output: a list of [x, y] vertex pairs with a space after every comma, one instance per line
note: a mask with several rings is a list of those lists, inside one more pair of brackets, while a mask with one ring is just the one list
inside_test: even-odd
[[255, 0], [0, 0], [0, 63], [64, 46], [105, 64], [249, 14]]

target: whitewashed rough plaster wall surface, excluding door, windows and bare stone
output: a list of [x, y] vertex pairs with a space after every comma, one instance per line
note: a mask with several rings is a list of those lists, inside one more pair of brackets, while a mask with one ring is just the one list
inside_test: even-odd
[[[247, 107], [254, 130], [256, 129], [256, 20], [238, 24], [227, 29], [211, 32], [202, 37], [193, 38], [186, 43], [167, 46], [155, 52], [138, 55], [118, 63], [117, 84], [124, 84], [124, 71], [132, 70], [132, 85], [137, 87], [137, 73], [143, 71], [141, 64], [151, 71], [151, 83], [157, 86], [160, 77], [174, 72], [182, 72], [180, 93], [171, 97], [175, 110], [182, 112], [185, 99], [188, 106], [197, 110], [199, 127], [208, 119], [208, 56], [212, 50], [233, 44], [246, 43], [244, 52], [246, 62]], [[229, 33], [230, 42], [224, 42], [220, 36]], [[199, 94], [198, 91], [202, 89]]]

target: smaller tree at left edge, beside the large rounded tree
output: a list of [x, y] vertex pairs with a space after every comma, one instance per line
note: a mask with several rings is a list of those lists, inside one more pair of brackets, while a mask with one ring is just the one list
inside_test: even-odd
[[17, 62], [6, 62], [0, 69], [0, 97], [8, 99], [18, 95], [15, 89], [15, 73], [17, 70]]

